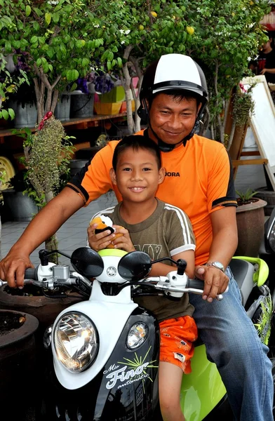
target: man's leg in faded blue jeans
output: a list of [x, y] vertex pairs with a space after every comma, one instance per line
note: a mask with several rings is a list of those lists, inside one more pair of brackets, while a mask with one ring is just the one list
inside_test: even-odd
[[216, 363], [238, 421], [273, 421], [273, 380], [268, 348], [260, 342], [252, 321], [241, 305], [241, 295], [231, 271], [229, 292], [222, 301], [209, 303], [189, 294], [194, 319]]

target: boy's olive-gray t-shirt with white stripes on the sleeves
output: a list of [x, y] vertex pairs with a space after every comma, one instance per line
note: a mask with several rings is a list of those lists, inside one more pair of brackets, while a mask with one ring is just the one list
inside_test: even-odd
[[[195, 239], [188, 216], [173, 205], [159, 199], [156, 210], [147, 220], [139, 224], [128, 224], [121, 218], [121, 203], [100, 211], [96, 216], [106, 215], [114, 225], [128, 229], [135, 250], [145, 251], [152, 260], [172, 257], [182, 251], [195, 250]], [[92, 219], [93, 219], [92, 218]], [[171, 265], [170, 262], [163, 262]], [[141, 307], [152, 311], [159, 321], [180, 316], [192, 316], [194, 307], [189, 303], [188, 294], [180, 301], [172, 301], [165, 296], [146, 296], [134, 298]]]

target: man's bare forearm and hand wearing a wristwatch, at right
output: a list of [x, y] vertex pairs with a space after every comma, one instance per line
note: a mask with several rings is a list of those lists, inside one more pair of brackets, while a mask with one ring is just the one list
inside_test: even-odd
[[[208, 262], [221, 262], [224, 267], [229, 265], [238, 244], [236, 226], [236, 208], [228, 206], [210, 214], [213, 241], [210, 247]], [[205, 283], [203, 299], [211, 302], [217, 294], [226, 290], [228, 277], [213, 266], [197, 266], [196, 277]]]

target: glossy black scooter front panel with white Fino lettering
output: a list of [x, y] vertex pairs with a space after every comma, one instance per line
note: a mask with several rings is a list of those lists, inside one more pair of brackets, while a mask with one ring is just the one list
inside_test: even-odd
[[[130, 349], [127, 338], [135, 323], [145, 323], [148, 335], [142, 345]], [[159, 324], [137, 307], [109, 359], [86, 385], [69, 390], [60, 385], [50, 356], [43, 384], [39, 421], [159, 421], [158, 368]], [[78, 377], [75, 374], [74, 377]]]

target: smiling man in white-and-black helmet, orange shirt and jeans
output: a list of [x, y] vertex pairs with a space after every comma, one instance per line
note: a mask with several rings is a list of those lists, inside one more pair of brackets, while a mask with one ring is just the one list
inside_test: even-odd
[[[194, 319], [206, 344], [208, 358], [217, 364], [236, 420], [272, 421], [273, 381], [267, 347], [241, 305], [230, 269], [236, 249], [236, 198], [226, 149], [194, 135], [208, 101], [206, 80], [191, 58], [163, 55], [147, 69], [139, 110], [149, 128], [143, 134], [161, 149], [166, 178], [156, 196], [185, 210], [196, 237], [196, 276], [203, 279], [201, 296], [190, 295]], [[32, 220], [6, 258], [0, 277], [22, 286], [29, 254], [83, 204], [109, 189], [121, 195], [109, 178], [117, 142], [95, 155], [67, 187]], [[109, 240], [108, 238], [106, 240]], [[227, 268], [227, 269], [225, 269]], [[224, 300], [215, 300], [229, 283]]]

